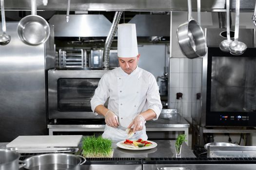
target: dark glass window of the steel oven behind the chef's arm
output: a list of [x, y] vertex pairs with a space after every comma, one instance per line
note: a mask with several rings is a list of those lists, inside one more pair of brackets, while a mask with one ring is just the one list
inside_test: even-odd
[[92, 112], [90, 101], [98, 86], [99, 78], [59, 79], [58, 110]]

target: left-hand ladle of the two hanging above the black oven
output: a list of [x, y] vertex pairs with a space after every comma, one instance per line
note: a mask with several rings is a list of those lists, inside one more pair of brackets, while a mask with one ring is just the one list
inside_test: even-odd
[[223, 40], [219, 44], [219, 48], [223, 52], [229, 52], [229, 45], [233, 40], [230, 39], [230, 22], [229, 22], [229, 0], [226, 0], [226, 8], [227, 8], [227, 39]]

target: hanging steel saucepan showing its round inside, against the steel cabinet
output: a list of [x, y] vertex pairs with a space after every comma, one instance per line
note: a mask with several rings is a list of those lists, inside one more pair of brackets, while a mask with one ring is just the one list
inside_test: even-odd
[[20, 40], [27, 45], [36, 46], [49, 38], [50, 26], [43, 17], [37, 15], [36, 0], [31, 0], [31, 15], [20, 20], [17, 31]]

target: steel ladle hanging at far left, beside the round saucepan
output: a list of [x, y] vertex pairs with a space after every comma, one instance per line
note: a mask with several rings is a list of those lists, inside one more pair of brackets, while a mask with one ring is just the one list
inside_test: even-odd
[[0, 35], [0, 45], [7, 45], [11, 36], [6, 34], [6, 24], [5, 24], [5, 15], [4, 15], [4, 1], [0, 0], [1, 3], [1, 16], [2, 16], [2, 34]]

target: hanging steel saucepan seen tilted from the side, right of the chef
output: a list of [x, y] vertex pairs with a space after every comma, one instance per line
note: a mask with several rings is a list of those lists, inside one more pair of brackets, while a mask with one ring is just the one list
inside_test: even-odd
[[206, 54], [206, 40], [202, 28], [192, 18], [191, 0], [188, 0], [188, 21], [177, 29], [178, 45], [188, 58], [203, 57]]

